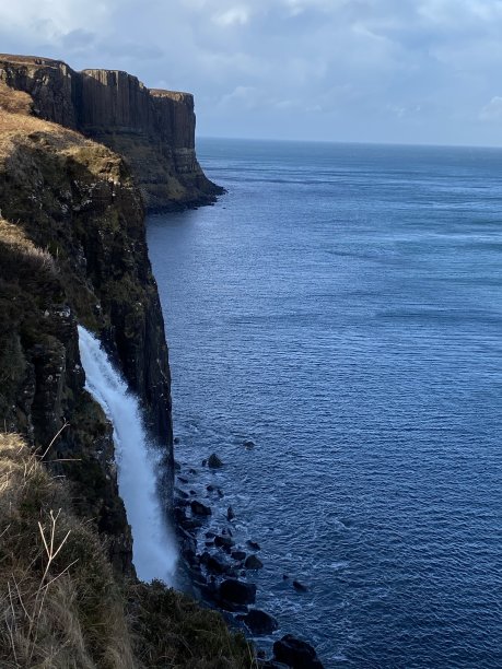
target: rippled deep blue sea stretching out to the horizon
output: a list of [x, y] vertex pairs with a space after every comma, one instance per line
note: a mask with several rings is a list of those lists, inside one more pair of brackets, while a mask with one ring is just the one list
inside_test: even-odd
[[257, 606], [327, 667], [502, 667], [502, 151], [198, 153], [229, 193], [150, 254], [177, 458], [261, 544]]

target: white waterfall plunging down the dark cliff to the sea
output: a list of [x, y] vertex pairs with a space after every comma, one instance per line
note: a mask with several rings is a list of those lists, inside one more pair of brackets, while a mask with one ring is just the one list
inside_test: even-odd
[[132, 561], [142, 580], [173, 585], [176, 541], [156, 491], [159, 451], [149, 443], [138, 398], [108, 360], [100, 341], [79, 326], [85, 388], [114, 426], [118, 488], [132, 529]]

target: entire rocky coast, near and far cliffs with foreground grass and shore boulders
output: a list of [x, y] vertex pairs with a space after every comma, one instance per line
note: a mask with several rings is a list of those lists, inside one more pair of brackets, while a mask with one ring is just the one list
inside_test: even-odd
[[[145, 212], [221, 192], [200, 169], [194, 133], [189, 94], [149, 91], [126, 72], [0, 56], [2, 667], [283, 666], [258, 659], [219, 613], [138, 580], [113, 429], [85, 389], [79, 325], [140, 400], [195, 591], [247, 612], [256, 586], [197, 554], [197, 516], [210, 509], [188, 493], [172, 508], [168, 353]], [[229, 536], [219, 540], [230, 550]], [[232, 620], [258, 634], [277, 627], [256, 609]], [[320, 667], [289, 635], [275, 653], [291, 667]]]

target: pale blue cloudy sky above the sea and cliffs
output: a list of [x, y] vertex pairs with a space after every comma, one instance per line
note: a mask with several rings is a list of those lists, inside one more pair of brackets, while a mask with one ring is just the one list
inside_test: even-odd
[[205, 137], [502, 145], [502, 0], [0, 0], [0, 50], [189, 91]]

